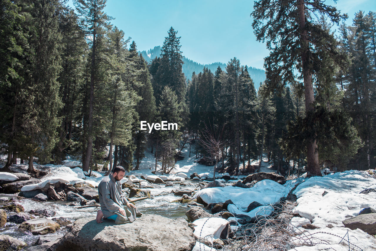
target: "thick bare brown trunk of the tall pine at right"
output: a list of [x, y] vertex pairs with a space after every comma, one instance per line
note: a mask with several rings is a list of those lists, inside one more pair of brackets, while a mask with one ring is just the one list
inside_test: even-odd
[[[307, 30], [305, 23], [305, 6], [304, 0], [298, 0], [299, 12], [299, 28], [300, 28], [300, 44], [302, 47], [302, 67], [303, 67], [303, 81], [306, 115], [314, 112], [314, 93], [312, 84], [312, 72], [309, 69], [309, 44], [307, 40]], [[321, 176], [320, 166], [318, 164], [318, 150], [317, 141], [315, 138], [311, 139], [307, 145], [307, 176]]]

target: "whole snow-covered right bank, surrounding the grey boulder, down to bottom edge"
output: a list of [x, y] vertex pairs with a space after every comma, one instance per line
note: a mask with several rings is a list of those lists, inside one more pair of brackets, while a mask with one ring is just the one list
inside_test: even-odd
[[[299, 203], [293, 213], [301, 217], [294, 217], [291, 222], [296, 233], [291, 244], [296, 247], [290, 251], [376, 250], [374, 236], [359, 229], [350, 230], [342, 223], [366, 207], [376, 208], [375, 193], [360, 193], [366, 188], [376, 188], [376, 179], [365, 171], [354, 170], [312, 177], [300, 184], [293, 192]], [[300, 227], [307, 222], [319, 228], [306, 230]], [[329, 224], [334, 227], [327, 227]]]

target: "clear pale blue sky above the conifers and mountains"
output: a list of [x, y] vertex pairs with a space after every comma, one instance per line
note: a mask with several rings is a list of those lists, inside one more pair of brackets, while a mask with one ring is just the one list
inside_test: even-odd
[[[68, 4], [73, 6], [72, 1]], [[339, 0], [347, 24], [355, 12], [376, 12], [375, 0]], [[252, 29], [253, 1], [245, 0], [108, 0], [105, 12], [111, 22], [131, 37], [139, 51], [162, 45], [172, 26], [181, 36], [183, 55], [201, 64], [227, 63], [237, 57], [242, 65], [263, 68], [268, 55]], [[132, 41], [131, 40], [131, 41]]]

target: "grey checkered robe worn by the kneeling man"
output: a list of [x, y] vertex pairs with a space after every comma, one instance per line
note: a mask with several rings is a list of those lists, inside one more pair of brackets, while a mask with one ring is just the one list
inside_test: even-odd
[[[138, 210], [136, 211], [135, 208], [126, 206], [128, 200], [121, 191], [120, 181], [116, 181], [112, 173], [99, 183], [98, 194], [103, 217], [108, 218], [116, 214], [115, 224], [133, 222], [136, 219], [136, 213], [139, 213]], [[120, 208], [124, 208], [126, 216], [120, 214]]]

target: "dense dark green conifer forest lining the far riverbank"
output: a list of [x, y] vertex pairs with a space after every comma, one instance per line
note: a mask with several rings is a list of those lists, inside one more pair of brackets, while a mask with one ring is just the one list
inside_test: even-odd
[[[375, 166], [375, 12], [350, 13], [348, 26], [325, 1], [255, 1], [253, 29], [244, 32], [270, 52], [265, 81], [255, 83], [252, 66], [236, 57], [185, 76], [173, 27], [149, 63], [111, 23], [106, 0], [73, 3], [0, 1], [5, 168], [19, 158], [33, 172], [33, 162], [69, 155], [87, 172], [137, 170], [149, 151], [169, 173], [191, 146], [191, 156], [235, 174], [255, 171], [250, 162], [262, 158], [283, 175]], [[149, 133], [140, 121], [178, 130]]]

